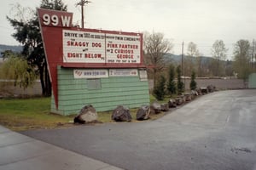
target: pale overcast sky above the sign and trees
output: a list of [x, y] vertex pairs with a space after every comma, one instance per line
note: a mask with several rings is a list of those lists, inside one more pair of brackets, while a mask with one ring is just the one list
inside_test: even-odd
[[[79, 0], [62, 0], [80, 25]], [[212, 43], [224, 41], [229, 48], [240, 39], [256, 39], [255, 0], [90, 0], [85, 6], [85, 27], [113, 31], [162, 32], [173, 44], [172, 53], [181, 54], [195, 42], [201, 54], [211, 56]], [[2, 0], [0, 6], [0, 43], [16, 45], [14, 30], [6, 20], [11, 5], [36, 8], [41, 0]]]

